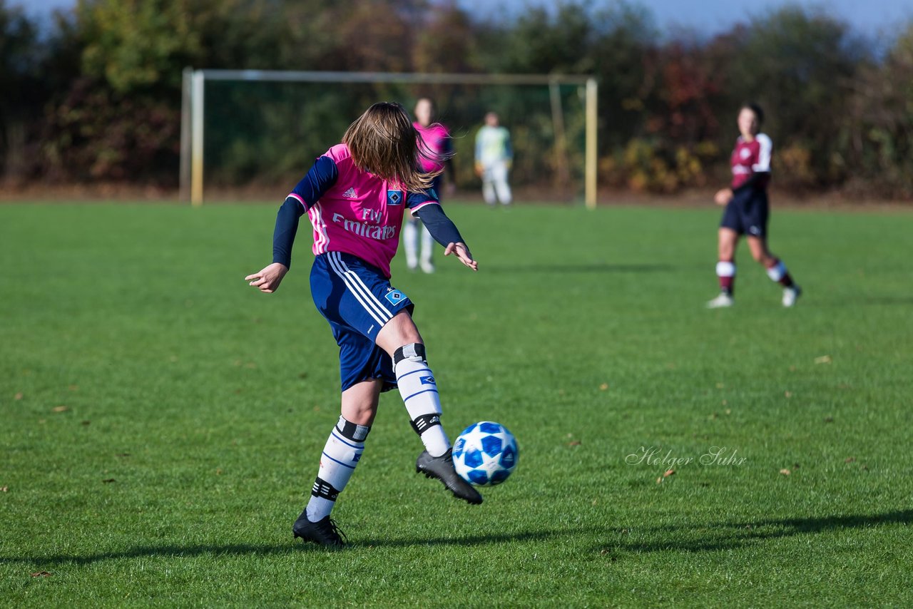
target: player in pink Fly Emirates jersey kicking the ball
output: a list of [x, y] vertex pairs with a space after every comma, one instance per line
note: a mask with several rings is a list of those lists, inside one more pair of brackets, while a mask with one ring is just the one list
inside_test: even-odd
[[443, 161], [423, 143], [398, 103], [374, 104], [322, 154], [279, 208], [273, 263], [245, 280], [271, 293], [291, 265], [299, 217], [313, 226], [310, 293], [340, 347], [341, 416], [333, 426], [310, 501], [292, 527], [295, 537], [341, 547], [343, 535], [330, 512], [352, 477], [371, 431], [380, 394], [399, 388], [406, 411], [425, 445], [415, 470], [444, 483], [458, 499], [482, 496], [456, 475], [450, 440], [441, 425], [441, 403], [425, 344], [412, 320], [415, 305], [390, 285], [404, 210], [472, 270], [478, 263], [438, 204], [421, 161]]

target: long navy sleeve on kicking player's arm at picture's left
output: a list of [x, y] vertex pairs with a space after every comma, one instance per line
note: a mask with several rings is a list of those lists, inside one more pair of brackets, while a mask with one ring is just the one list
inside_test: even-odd
[[291, 268], [291, 248], [298, 233], [299, 218], [336, 184], [338, 178], [336, 163], [329, 156], [321, 156], [289, 193], [276, 215], [276, 228], [273, 230], [274, 263]]

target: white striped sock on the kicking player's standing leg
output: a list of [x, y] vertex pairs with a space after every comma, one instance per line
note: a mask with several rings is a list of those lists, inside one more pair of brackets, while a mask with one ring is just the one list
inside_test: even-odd
[[364, 439], [369, 431], [369, 425], [355, 425], [343, 417], [333, 427], [326, 446], [323, 446], [317, 479], [310, 489], [306, 511], [311, 522], [330, 515], [337, 497], [349, 483], [355, 466], [362, 458]]

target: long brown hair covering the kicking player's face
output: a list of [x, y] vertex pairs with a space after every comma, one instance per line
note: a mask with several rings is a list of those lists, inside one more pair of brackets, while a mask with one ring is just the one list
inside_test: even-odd
[[349, 125], [342, 143], [349, 146], [352, 161], [360, 170], [413, 193], [424, 193], [441, 173], [423, 172], [420, 158], [436, 163], [449, 158], [428, 148], [408, 112], [395, 101], [379, 101], [365, 110]]

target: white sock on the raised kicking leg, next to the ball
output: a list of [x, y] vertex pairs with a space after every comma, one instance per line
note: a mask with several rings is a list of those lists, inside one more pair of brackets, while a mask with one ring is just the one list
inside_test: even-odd
[[432, 457], [440, 457], [450, 448], [450, 438], [441, 425], [441, 401], [435, 375], [425, 360], [425, 345], [415, 342], [397, 349], [394, 372], [415, 433]]

